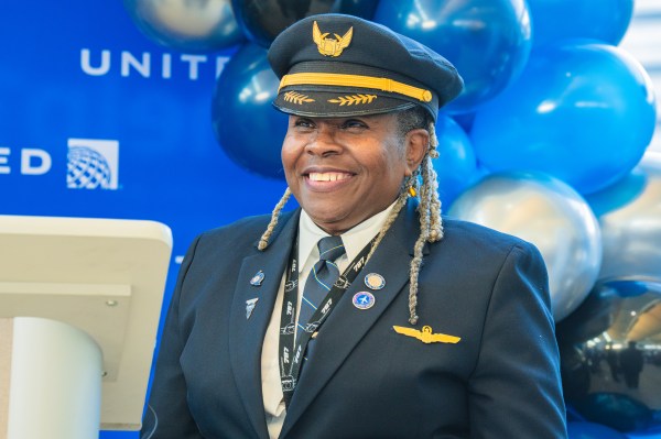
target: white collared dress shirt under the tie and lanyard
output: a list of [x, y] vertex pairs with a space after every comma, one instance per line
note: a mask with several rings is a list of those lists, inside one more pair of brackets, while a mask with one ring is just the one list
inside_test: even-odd
[[[390, 205], [386, 210], [362, 221], [340, 235], [346, 251], [343, 256], [335, 261], [340, 273], [344, 272], [349, 263], [358, 255], [358, 253], [360, 253], [365, 245], [379, 233], [393, 206], [394, 204]], [[318, 240], [324, 237], [328, 237], [328, 233], [319, 229], [318, 226], [312, 221], [310, 216], [305, 213], [304, 210], [301, 210], [301, 219], [299, 221], [299, 261], [304, 263], [299, 264], [297, 307], [301, 306], [301, 297], [303, 296], [303, 288], [305, 287], [307, 275], [310, 274], [312, 266], [319, 259], [319, 251], [316, 244]], [[283, 296], [284, 275], [280, 283], [273, 314], [271, 315], [271, 320], [264, 336], [261, 356], [262, 396], [264, 399], [264, 411], [267, 414], [267, 426], [271, 439], [275, 439], [280, 435], [282, 422], [284, 421], [284, 416], [286, 414], [284, 399], [282, 397], [279, 366], [280, 358], [278, 352]], [[296, 318], [299, 312], [296, 311]]]

